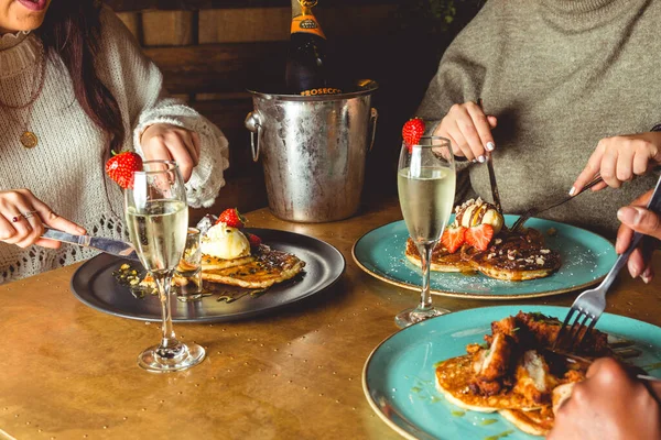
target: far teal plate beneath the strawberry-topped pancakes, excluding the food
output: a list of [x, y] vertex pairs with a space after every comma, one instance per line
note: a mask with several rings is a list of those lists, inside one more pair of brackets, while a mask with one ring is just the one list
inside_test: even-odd
[[[511, 226], [519, 217], [505, 216]], [[433, 294], [476, 299], [521, 299], [578, 290], [602, 280], [615, 264], [615, 248], [593, 232], [556, 221], [532, 218], [525, 223], [545, 235], [549, 249], [560, 252], [562, 266], [545, 278], [506, 282], [481, 274], [432, 272]], [[555, 229], [551, 237], [546, 232]], [[403, 220], [377, 228], [356, 241], [354, 260], [368, 274], [419, 290], [422, 272], [404, 256], [409, 232]]]

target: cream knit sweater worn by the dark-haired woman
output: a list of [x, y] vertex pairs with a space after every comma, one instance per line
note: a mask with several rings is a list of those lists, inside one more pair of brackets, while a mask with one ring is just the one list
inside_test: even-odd
[[[98, 75], [121, 109], [124, 150], [140, 151], [142, 131], [170, 123], [199, 134], [201, 160], [186, 184], [188, 205], [210, 206], [229, 165], [223, 133], [189, 107], [167, 98], [162, 75], [138, 47], [133, 36], [109, 9], [101, 11]], [[7, 34], [0, 40], [0, 97], [8, 103], [29, 100], [36, 76], [40, 45], [33, 34]], [[8, 111], [14, 111], [12, 116]], [[43, 90], [28, 123], [39, 145], [19, 142], [26, 111], [0, 111], [0, 188], [28, 188], [55, 212], [85, 227], [90, 234], [126, 240], [122, 194], [104, 172], [107, 136], [87, 117], [73, 91], [62, 61], [50, 59]], [[95, 251], [63, 244], [59, 250], [21, 249], [0, 243], [0, 283], [34, 275], [91, 257]]]

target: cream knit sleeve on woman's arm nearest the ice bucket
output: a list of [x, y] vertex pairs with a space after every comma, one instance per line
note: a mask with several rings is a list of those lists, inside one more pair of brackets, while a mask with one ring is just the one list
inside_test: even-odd
[[229, 166], [227, 139], [220, 130], [177, 99], [167, 97], [159, 68], [142, 53], [133, 35], [104, 7], [102, 38], [97, 67], [112, 91], [124, 120], [124, 147], [142, 155], [140, 136], [154, 123], [185, 128], [199, 135], [199, 163], [186, 184], [188, 205], [209, 207], [225, 185], [223, 172]]

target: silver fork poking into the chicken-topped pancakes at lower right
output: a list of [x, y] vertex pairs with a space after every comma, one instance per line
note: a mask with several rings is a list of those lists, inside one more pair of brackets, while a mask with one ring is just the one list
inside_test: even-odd
[[[654, 188], [654, 193], [652, 193], [652, 197], [648, 202], [648, 209], [654, 212], [661, 212], [661, 177], [657, 182], [657, 187]], [[583, 294], [578, 295], [574, 304], [572, 304], [572, 308], [567, 314], [562, 327], [560, 328], [560, 332], [553, 342], [553, 350], [562, 348], [566, 351], [572, 351], [578, 349], [581, 343], [583, 342], [585, 336], [592, 331], [595, 327], [599, 317], [606, 309], [606, 293], [608, 288], [615, 280], [618, 272], [627, 264], [627, 260], [629, 260], [629, 255], [636, 249], [640, 240], [642, 240], [643, 234], [636, 232], [633, 234], [633, 239], [629, 244], [627, 251], [618, 256], [615, 264], [602, 282], [596, 288], [585, 290]], [[570, 327], [570, 322], [572, 321], [572, 317], [576, 315], [574, 322]], [[585, 328], [585, 324], [588, 324]]]

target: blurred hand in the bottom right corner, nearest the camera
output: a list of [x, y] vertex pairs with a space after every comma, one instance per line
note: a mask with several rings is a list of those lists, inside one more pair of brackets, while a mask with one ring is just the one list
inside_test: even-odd
[[660, 439], [661, 384], [648, 385], [613, 359], [595, 361], [560, 406], [546, 439]]

